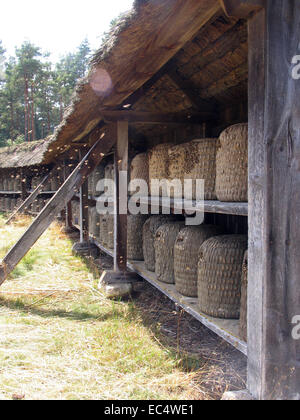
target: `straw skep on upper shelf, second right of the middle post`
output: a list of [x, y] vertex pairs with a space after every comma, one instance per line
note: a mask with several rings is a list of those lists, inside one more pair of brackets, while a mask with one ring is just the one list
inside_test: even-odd
[[[170, 143], [163, 143], [155, 146], [149, 152], [149, 182], [150, 192], [152, 195], [156, 193], [152, 188], [151, 181], [153, 179], [168, 180], [169, 178], [169, 148], [173, 145]], [[157, 195], [157, 194], [156, 194]], [[162, 192], [160, 191], [160, 194]]]

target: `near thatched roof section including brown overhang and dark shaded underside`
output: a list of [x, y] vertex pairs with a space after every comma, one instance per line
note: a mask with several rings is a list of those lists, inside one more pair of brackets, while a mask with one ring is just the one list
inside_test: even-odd
[[246, 22], [226, 17], [219, 0], [136, 0], [94, 55], [53, 136], [11, 162], [50, 163], [72, 142], [84, 141], [102, 121], [101, 112], [122, 109], [164, 68], [132, 109], [189, 111], [212, 98], [222, 109], [246, 98], [247, 48]]

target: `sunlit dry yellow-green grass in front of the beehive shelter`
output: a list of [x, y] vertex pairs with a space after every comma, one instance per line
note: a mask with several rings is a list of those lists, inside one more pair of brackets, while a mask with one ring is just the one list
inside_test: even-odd
[[[1, 258], [29, 222], [0, 217]], [[58, 224], [0, 289], [0, 399], [207, 399], [191, 360], [96, 290]]]

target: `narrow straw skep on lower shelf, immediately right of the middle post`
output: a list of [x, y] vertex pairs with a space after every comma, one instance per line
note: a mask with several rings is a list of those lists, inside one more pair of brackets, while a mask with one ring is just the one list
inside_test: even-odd
[[143, 225], [147, 216], [143, 214], [127, 217], [127, 257], [130, 260], [143, 261]]

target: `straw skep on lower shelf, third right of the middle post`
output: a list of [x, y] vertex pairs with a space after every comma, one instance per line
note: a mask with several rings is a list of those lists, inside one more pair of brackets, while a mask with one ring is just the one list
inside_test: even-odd
[[175, 284], [174, 245], [177, 235], [184, 228], [184, 222], [160, 226], [155, 234], [155, 274], [159, 281]]

